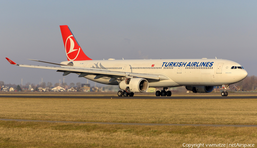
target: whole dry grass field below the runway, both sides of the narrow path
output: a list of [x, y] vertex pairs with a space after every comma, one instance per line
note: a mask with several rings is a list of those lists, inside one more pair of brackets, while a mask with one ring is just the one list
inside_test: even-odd
[[[257, 124], [255, 99], [0, 98], [0, 118]], [[183, 147], [257, 144], [256, 127], [136, 126], [0, 121], [0, 147]]]

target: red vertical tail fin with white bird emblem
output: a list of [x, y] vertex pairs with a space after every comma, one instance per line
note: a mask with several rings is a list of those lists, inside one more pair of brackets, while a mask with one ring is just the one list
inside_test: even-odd
[[67, 25], [61, 25], [60, 29], [68, 61], [92, 60], [83, 52]]

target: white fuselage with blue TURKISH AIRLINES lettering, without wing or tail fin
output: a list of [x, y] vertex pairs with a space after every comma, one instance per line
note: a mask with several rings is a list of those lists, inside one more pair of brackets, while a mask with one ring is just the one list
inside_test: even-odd
[[[161, 74], [168, 80], [149, 81], [149, 87], [177, 86], [221, 86], [233, 84], [247, 76], [244, 69], [231, 69], [240, 64], [222, 59], [160, 59], [160, 60], [86, 60], [73, 62], [73, 66], [98, 70], [139, 74]], [[240, 66], [241, 67], [241, 66]], [[119, 85], [119, 80], [109, 82], [108, 76], [94, 79], [95, 75], [85, 78], [110, 85]]]

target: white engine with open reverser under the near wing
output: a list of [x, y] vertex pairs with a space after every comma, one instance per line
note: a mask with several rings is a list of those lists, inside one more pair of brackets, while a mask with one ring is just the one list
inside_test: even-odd
[[144, 78], [127, 78], [119, 84], [119, 88], [126, 92], [146, 92], [148, 87], [148, 81]]

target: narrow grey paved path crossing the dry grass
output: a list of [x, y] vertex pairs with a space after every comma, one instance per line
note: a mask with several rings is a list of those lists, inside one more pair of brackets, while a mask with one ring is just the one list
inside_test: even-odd
[[162, 123], [115, 123], [115, 122], [75, 122], [75, 121], [47, 121], [47, 120], [23, 120], [23, 119], [0, 119], [2, 121], [19, 121], [19, 122], [49, 122], [49, 123], [93, 123], [93, 124], [109, 124], [109, 125], [169, 125], [169, 126], [211, 126], [211, 127], [257, 127], [257, 125], [221, 125], [221, 124], [162, 124]]

